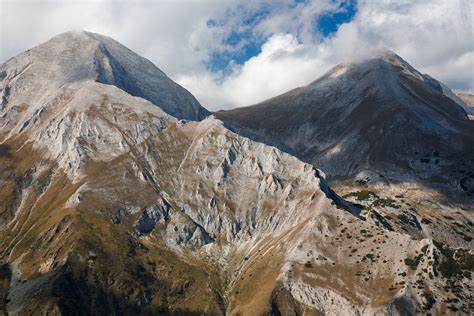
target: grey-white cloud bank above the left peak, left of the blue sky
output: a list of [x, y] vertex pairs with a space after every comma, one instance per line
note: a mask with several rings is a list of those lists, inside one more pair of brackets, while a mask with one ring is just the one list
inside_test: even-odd
[[232, 1], [0, 0], [0, 60], [73, 29], [108, 35], [170, 75], [195, 70], [219, 49], [226, 29], [206, 21]]

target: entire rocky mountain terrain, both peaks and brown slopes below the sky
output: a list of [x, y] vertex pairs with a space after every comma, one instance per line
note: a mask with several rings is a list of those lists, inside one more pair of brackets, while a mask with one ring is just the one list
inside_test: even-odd
[[0, 310], [472, 313], [474, 128], [446, 89], [388, 54], [213, 116], [102, 35], [13, 57]]

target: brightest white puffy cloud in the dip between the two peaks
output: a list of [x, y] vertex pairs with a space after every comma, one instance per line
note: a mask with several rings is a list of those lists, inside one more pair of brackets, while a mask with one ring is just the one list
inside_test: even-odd
[[315, 79], [328, 65], [291, 34], [275, 34], [262, 51], [223, 79], [209, 72], [183, 75], [177, 81], [210, 109], [250, 105]]

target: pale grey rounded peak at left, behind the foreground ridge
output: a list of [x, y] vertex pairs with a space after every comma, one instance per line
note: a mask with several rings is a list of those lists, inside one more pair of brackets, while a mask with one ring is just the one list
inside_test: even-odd
[[1, 66], [0, 79], [4, 85], [2, 107], [15, 88], [24, 91], [21, 96], [15, 94], [19, 98], [16, 103], [32, 95], [41, 102], [56, 89], [92, 80], [147, 99], [179, 119], [201, 120], [209, 114], [191, 93], [149, 60], [107, 36], [85, 31], [60, 34], [11, 58]]

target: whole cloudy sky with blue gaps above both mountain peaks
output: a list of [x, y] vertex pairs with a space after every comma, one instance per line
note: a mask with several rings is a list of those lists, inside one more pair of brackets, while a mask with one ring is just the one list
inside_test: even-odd
[[65, 31], [101, 33], [218, 110], [388, 48], [474, 92], [473, 28], [471, 0], [0, 0], [0, 62]]

